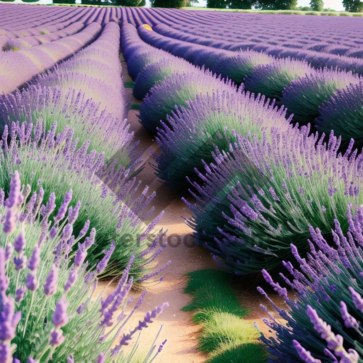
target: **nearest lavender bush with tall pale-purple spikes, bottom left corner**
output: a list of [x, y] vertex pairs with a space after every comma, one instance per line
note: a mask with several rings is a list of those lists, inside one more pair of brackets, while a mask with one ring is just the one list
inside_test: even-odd
[[[11, 189], [6, 204], [8, 209], [12, 209], [13, 212], [19, 216], [23, 215], [21, 212], [24, 211], [26, 205], [22, 203], [23, 198], [21, 197], [20, 191], [19, 173], [15, 171], [14, 174], [15, 176], [11, 180]], [[99, 315], [97, 313], [97, 305], [94, 306], [93, 303], [90, 302], [90, 297], [97, 287], [97, 274], [106, 268], [107, 262], [115, 250], [115, 242], [111, 242], [109, 251], [105, 251], [105, 257], [99, 262], [97, 268], [94, 269], [94, 271], [90, 270], [87, 272], [88, 262], [85, 262], [85, 258], [87, 256], [87, 249], [95, 243], [96, 231], [95, 229], [92, 229], [89, 236], [85, 238], [85, 241], [83, 243], [78, 243], [77, 252], [73, 254], [73, 256], [68, 256], [70, 252], [69, 241], [71, 241], [71, 243], [72, 241], [75, 241], [74, 236], [71, 237], [70, 234], [72, 233], [73, 224], [76, 223], [81, 203], [76, 203], [74, 208], [72, 206], [69, 207], [68, 223], [65, 225], [58, 225], [60, 215], [59, 213], [56, 215], [57, 228], [59, 228], [60, 231], [59, 233], [56, 233], [53, 238], [49, 238], [51, 223], [46, 223], [46, 221], [54, 209], [55, 199], [56, 196], [52, 193], [47, 203], [41, 205], [40, 208], [34, 206], [30, 208], [28, 205], [30, 218], [25, 218], [24, 220], [18, 218], [15, 221], [16, 223], [13, 232], [20, 231], [20, 233], [15, 233], [15, 235], [12, 233], [9, 236], [4, 232], [4, 236], [8, 236], [7, 239], [9, 244], [6, 250], [0, 248], [0, 361], [4, 363], [7, 363], [12, 359], [14, 349], [13, 346], [11, 346], [11, 341], [16, 335], [17, 341], [21, 342], [21, 340], [19, 340], [21, 336], [23, 336], [25, 341], [28, 341], [34, 334], [35, 336], [38, 335], [41, 343], [40, 346], [45, 348], [38, 351], [36, 349], [34, 350], [34, 347], [32, 346], [30, 350], [32, 350], [32, 357], [34, 358], [29, 357], [27, 360], [28, 362], [34, 362], [34, 359], [42, 359], [44, 354], [48, 354], [47, 347], [51, 348], [53, 358], [60, 362], [65, 361], [65, 359], [67, 359], [68, 362], [79, 359], [80, 356], [84, 355], [84, 352], [82, 352], [82, 350], [77, 351], [78, 339], [70, 339], [72, 344], [67, 341], [65, 346], [66, 351], [64, 349], [57, 350], [57, 347], [62, 346], [64, 342], [69, 339], [69, 337], [64, 334], [62, 328], [66, 327], [69, 323], [72, 324], [73, 319], [78, 320], [76, 325], [73, 326], [72, 332], [75, 331], [77, 333], [78, 331], [81, 331], [83, 329], [83, 324], [86, 322], [86, 324], [90, 326], [89, 329], [91, 330], [87, 333], [87, 341], [90, 344], [89, 346], [94, 344], [94, 348], [91, 348], [91, 352], [87, 353], [89, 354], [89, 359], [91, 359], [92, 362], [95, 362], [96, 360], [97, 362], [104, 362], [107, 359], [107, 356], [111, 354], [111, 352], [107, 350], [107, 344], [109, 343], [106, 342], [106, 338], [112, 331], [109, 331], [109, 333], [105, 335], [104, 328], [112, 325], [114, 325], [113, 329], [118, 327], [116, 334], [112, 338], [116, 339], [131, 314], [141, 305], [144, 294], [146, 293], [142, 294], [126, 321], [121, 324], [122, 320], [126, 317], [126, 315], [122, 313], [119, 315], [116, 322], [114, 322], [113, 315], [119, 307], [125, 307], [127, 305], [127, 294], [132, 286], [133, 278], [132, 276], [129, 278], [129, 271], [134, 261], [134, 256], [131, 255], [129, 264], [124, 270], [117, 288], [110, 293], [105, 300], [101, 301], [99, 306], [101, 314]], [[72, 189], [70, 192], [66, 193], [62, 205], [66, 209], [65, 204], [68, 205], [69, 203], [72, 203]], [[43, 217], [40, 222], [34, 218], [34, 214], [37, 214], [38, 210]], [[61, 216], [63, 214], [64, 212], [61, 211]], [[3, 223], [5, 223], [5, 219], [3, 219]], [[40, 232], [38, 239], [34, 239], [33, 233], [28, 234], [27, 231], [32, 231], [32, 229], [38, 229]], [[83, 234], [86, 234], [86, 229], [88, 229], [87, 223], [82, 232]], [[25, 241], [26, 239], [28, 241]], [[45, 240], [47, 240], [47, 243], [43, 243]], [[29, 273], [25, 278], [25, 286], [30, 290], [30, 294], [26, 294], [26, 289], [22, 287], [22, 284], [24, 283], [24, 274], [19, 274], [16, 261], [16, 258], [20, 259], [19, 256], [26, 257], [25, 244], [30, 244], [30, 246], [33, 247], [33, 252], [30, 252], [28, 258], [27, 266]], [[11, 246], [13, 246], [13, 248]], [[72, 245], [70, 247], [72, 247]], [[12, 262], [11, 255], [13, 250], [16, 251], [17, 257]], [[52, 251], [55, 253], [55, 256], [52, 254]], [[146, 253], [148, 252], [146, 251]], [[42, 267], [37, 274], [38, 266], [40, 265], [40, 256], [46, 258], [42, 261]], [[21, 268], [25, 268], [25, 266], [22, 266]], [[17, 274], [17, 277], [13, 277], [9, 282], [8, 276], [9, 274], [13, 276], [13, 273]], [[61, 278], [60, 281], [64, 281], [67, 274], [68, 280], [64, 285], [63, 293], [61, 293], [58, 277]], [[39, 283], [37, 277], [39, 278]], [[9, 284], [11, 285], [10, 289]], [[42, 288], [40, 288], [41, 285], [43, 285]], [[15, 291], [14, 297], [18, 302], [18, 311], [15, 311], [14, 298], [11, 297], [11, 295], [7, 295], [8, 291]], [[61, 297], [54, 300], [52, 295], [55, 295], [56, 293]], [[36, 296], [37, 305], [34, 304], [34, 296]], [[84, 302], [82, 302], [82, 300]], [[99, 303], [99, 301], [97, 303]], [[156, 315], [161, 313], [166, 306], [168, 306], [168, 303], [164, 303], [163, 305], [156, 307], [152, 312], [146, 314], [143, 322], [140, 322], [136, 330], [147, 327], [146, 324], [152, 323], [152, 318], [155, 318]], [[51, 322], [46, 323], [44, 321], [44, 309], [45, 311], [50, 312]], [[88, 313], [85, 313], [86, 310]], [[23, 311], [24, 321], [22, 321], [21, 325], [18, 327], [18, 323], [22, 318], [21, 311]], [[39, 332], [42, 332], [42, 334], [39, 335]], [[134, 332], [127, 335], [127, 340], [131, 339]], [[85, 333], [82, 331], [82, 334]], [[100, 338], [102, 339], [99, 340]], [[103, 342], [106, 342], [105, 346], [102, 345]], [[25, 344], [25, 342], [21, 342], [21, 344]], [[125, 344], [119, 344], [117, 351], [112, 352], [113, 356], [117, 356], [117, 352], [122, 348], [122, 345]], [[103, 352], [101, 351], [102, 349]], [[69, 350], [74, 352], [74, 357], [67, 354], [67, 351]], [[161, 349], [159, 349], [158, 352], [160, 350]], [[27, 356], [24, 357], [23, 355], [28, 352], [28, 349], [20, 349], [17, 350], [16, 354], [21, 361], [25, 361]]]

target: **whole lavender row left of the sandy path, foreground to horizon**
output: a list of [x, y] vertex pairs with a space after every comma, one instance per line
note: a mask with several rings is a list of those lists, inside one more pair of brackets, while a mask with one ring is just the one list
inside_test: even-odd
[[[147, 225], [155, 193], [146, 197], [146, 187], [135, 197], [139, 157], [125, 119], [119, 25], [97, 26], [91, 45], [1, 96], [1, 363], [140, 359], [137, 346], [123, 347], [168, 305], [119, 337], [146, 294], [125, 314], [132, 282], [165, 268], [148, 268], [165, 232], [147, 243], [162, 214]], [[99, 276], [123, 268], [116, 289], [97, 297]], [[165, 341], [157, 351], [154, 343], [144, 362]]]

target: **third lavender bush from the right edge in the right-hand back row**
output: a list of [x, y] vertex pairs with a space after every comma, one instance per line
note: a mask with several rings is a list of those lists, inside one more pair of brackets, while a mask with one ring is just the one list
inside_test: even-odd
[[245, 86], [252, 92], [260, 92], [270, 99], [278, 99], [291, 81], [309, 76], [312, 72], [313, 68], [305, 60], [278, 58], [268, 64], [256, 65], [252, 74], [245, 80]]

